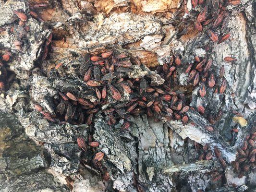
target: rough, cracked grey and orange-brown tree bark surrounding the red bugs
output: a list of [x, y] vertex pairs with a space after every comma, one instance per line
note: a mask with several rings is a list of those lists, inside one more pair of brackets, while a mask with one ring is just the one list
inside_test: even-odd
[[[204, 5], [208, 2], [211, 0]], [[31, 10], [38, 18], [30, 16]], [[27, 15], [23, 27], [13, 11]], [[241, 0], [238, 5], [228, 4], [230, 19], [222, 32], [216, 32], [231, 37], [221, 44], [209, 40], [208, 26], [202, 32], [195, 30], [201, 11], [199, 5], [192, 8], [191, 0], [0, 0], [0, 59], [3, 61], [6, 51], [11, 54], [8, 62], [3, 61], [7, 76], [0, 65], [0, 81], [5, 83], [0, 89], [0, 192], [254, 192], [255, 167], [239, 176], [232, 162], [237, 147], [256, 127], [256, 3]], [[51, 33], [53, 39], [44, 58]], [[22, 45], [15, 45], [15, 40]], [[107, 49], [140, 60], [142, 65], [133, 65], [123, 77], [147, 77], [152, 86], [164, 83], [154, 67], [172, 63], [173, 56], [179, 54], [182, 65], [176, 69], [179, 85], [175, 91], [184, 93], [189, 101], [188, 123], [159, 114], [155, 114], [160, 120], [156, 122], [142, 113], [128, 120], [129, 132], [120, 132], [124, 121], [110, 126], [101, 113], [115, 105], [111, 97], [110, 104], [95, 115], [93, 126], [50, 122], [35, 110], [37, 103], [54, 114], [59, 91], [98, 101], [78, 71], [85, 53]], [[200, 85], [187, 83], [184, 70], [195, 56], [213, 60], [211, 72], [218, 86], [219, 69], [224, 66], [224, 94], [207, 88], [206, 96], [200, 97]], [[237, 61], [225, 62], [227, 56]], [[58, 63], [65, 70], [59, 68], [57, 75], [54, 68]], [[123, 102], [129, 99], [122, 97]], [[193, 110], [198, 106], [204, 106], [205, 114]], [[246, 126], [232, 120], [237, 116], [233, 110], [243, 115]], [[210, 116], [218, 120], [212, 123]], [[207, 131], [206, 126], [214, 131]], [[99, 146], [83, 151], [77, 138], [88, 138], [91, 132]], [[199, 160], [204, 153], [199, 144], [208, 144], [211, 160]], [[214, 153], [216, 146], [226, 168]], [[85, 163], [92, 162], [95, 152], [104, 153], [104, 171]], [[106, 171], [108, 181], [102, 177]], [[214, 180], [218, 176], [219, 180]]]

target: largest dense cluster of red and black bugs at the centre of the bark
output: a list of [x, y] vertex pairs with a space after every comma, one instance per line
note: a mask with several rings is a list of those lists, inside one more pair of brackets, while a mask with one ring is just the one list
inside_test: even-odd
[[[134, 60], [135, 65], [140, 66], [139, 60]], [[177, 59], [175, 61], [177, 63]], [[58, 64], [57, 70], [61, 67]], [[185, 112], [189, 110], [183, 93], [175, 92], [172, 84], [177, 84], [175, 67], [165, 64], [158, 68], [158, 73], [166, 79], [160, 86], [152, 86], [148, 77], [130, 78], [127, 73], [132, 72], [134, 64], [125, 54], [110, 50], [100, 56], [86, 54], [80, 67], [80, 75], [88, 90], [94, 92], [98, 101], [91, 102], [88, 99], [75, 96], [71, 92], [59, 93], [59, 99], [55, 99], [56, 116], [39, 111], [45, 118], [60, 123], [92, 124], [94, 114], [103, 105], [110, 104], [109, 108], [102, 110], [108, 117], [109, 125], [114, 125], [117, 120], [124, 119], [121, 130], [127, 130], [130, 126], [129, 115], [146, 113], [149, 117], [155, 116], [155, 120], [165, 117], [168, 120], [183, 120], [187, 123]], [[38, 110], [38, 109], [37, 109]]]

